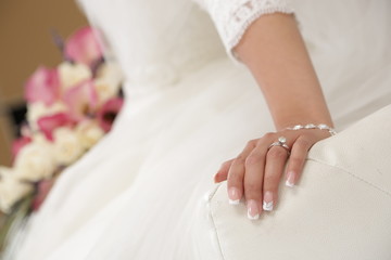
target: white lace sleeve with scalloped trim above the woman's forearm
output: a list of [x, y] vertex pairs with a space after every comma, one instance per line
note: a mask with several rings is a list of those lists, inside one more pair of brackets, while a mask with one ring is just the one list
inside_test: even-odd
[[[239, 61], [234, 48], [248, 27], [260, 16], [270, 13], [293, 13], [286, 0], [194, 0], [206, 10], [230, 57]], [[240, 61], [239, 61], [240, 62]]]

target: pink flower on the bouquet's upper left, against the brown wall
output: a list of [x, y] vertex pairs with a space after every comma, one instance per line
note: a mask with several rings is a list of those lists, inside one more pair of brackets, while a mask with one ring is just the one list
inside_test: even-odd
[[60, 78], [56, 69], [39, 67], [25, 84], [28, 103], [43, 102], [50, 106], [60, 98]]

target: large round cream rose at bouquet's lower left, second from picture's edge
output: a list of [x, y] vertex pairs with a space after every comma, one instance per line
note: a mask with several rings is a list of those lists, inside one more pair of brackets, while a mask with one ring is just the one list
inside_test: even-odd
[[15, 159], [16, 176], [21, 180], [39, 181], [50, 178], [55, 171], [53, 145], [43, 138], [24, 146]]

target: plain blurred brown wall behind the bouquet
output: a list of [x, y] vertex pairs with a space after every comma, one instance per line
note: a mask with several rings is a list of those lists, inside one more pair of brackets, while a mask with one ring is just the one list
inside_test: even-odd
[[67, 37], [87, 25], [75, 1], [0, 1], [0, 165], [11, 166], [11, 143], [25, 114], [24, 86], [63, 56], [52, 32]]

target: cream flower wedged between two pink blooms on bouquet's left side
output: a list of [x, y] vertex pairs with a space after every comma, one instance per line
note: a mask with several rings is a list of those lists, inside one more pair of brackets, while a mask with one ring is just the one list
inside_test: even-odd
[[66, 112], [66, 106], [62, 102], [54, 102], [50, 106], [47, 106], [43, 102], [35, 102], [27, 105], [27, 121], [33, 130], [38, 130], [37, 121], [39, 118], [61, 112]]

